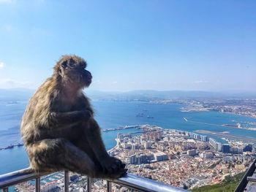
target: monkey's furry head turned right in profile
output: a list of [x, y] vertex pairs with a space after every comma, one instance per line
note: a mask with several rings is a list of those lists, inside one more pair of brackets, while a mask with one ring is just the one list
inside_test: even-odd
[[76, 55], [64, 55], [54, 67], [54, 73], [61, 79], [61, 83], [72, 88], [89, 87], [91, 73], [86, 70], [86, 61]]

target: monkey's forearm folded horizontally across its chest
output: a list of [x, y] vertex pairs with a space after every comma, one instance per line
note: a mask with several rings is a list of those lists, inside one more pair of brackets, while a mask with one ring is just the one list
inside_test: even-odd
[[91, 118], [89, 110], [80, 110], [72, 112], [51, 112], [50, 120], [55, 126], [68, 126], [81, 123]]

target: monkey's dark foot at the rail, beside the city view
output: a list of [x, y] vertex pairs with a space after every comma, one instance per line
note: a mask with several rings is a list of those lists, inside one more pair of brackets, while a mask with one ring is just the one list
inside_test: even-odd
[[114, 157], [105, 158], [100, 161], [102, 166], [102, 172], [106, 177], [113, 179], [119, 178], [126, 174], [127, 169], [124, 169], [125, 164], [123, 164], [119, 159]]

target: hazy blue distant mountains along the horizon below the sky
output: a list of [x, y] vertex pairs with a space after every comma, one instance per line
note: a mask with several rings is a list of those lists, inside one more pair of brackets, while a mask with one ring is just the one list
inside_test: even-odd
[[[0, 100], [20, 101], [29, 100], [35, 90], [26, 88], [0, 89]], [[256, 93], [219, 93], [209, 91], [93, 91], [86, 89], [85, 93], [94, 100], [139, 100], [154, 99], [225, 99], [225, 98], [256, 98]]]

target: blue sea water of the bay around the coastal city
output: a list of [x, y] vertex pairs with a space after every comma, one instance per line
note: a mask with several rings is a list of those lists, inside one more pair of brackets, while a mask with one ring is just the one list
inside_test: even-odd
[[[0, 101], [0, 148], [22, 142], [20, 139], [20, 120], [26, 109], [26, 104], [27, 101]], [[221, 126], [222, 124], [236, 123], [254, 123], [256, 125], [255, 118], [241, 115], [216, 111], [182, 112], [183, 104], [154, 104], [139, 101], [92, 101], [92, 104], [95, 118], [102, 129], [149, 124], [191, 132], [196, 130], [227, 131], [229, 134], [240, 137], [256, 138], [256, 131]], [[141, 113], [143, 115], [138, 117], [138, 114]], [[184, 120], [184, 118], [200, 123], [192, 123]], [[210, 124], [215, 124], [215, 126]], [[115, 138], [118, 133], [135, 131], [138, 129], [102, 132], [106, 149], [109, 150], [116, 145]], [[219, 137], [214, 137], [214, 139], [222, 141]], [[0, 174], [24, 169], [28, 166], [29, 160], [24, 147], [0, 150]]]

